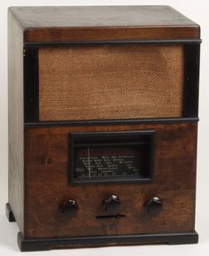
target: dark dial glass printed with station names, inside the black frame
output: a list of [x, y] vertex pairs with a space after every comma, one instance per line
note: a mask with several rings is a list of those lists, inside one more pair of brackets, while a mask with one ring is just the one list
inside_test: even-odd
[[142, 175], [142, 152], [134, 145], [87, 145], [75, 150], [78, 179]]

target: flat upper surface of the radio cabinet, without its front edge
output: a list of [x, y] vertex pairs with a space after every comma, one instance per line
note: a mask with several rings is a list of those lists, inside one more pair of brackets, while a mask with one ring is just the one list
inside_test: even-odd
[[9, 9], [22, 27], [195, 26], [166, 5], [19, 6]]

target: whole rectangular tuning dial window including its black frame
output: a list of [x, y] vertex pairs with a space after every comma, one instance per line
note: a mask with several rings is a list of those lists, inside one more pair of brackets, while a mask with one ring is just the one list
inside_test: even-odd
[[71, 183], [151, 180], [153, 132], [74, 134]]

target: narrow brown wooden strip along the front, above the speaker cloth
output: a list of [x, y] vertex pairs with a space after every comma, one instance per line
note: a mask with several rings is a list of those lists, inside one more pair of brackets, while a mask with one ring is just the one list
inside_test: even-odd
[[69, 43], [125, 40], [191, 40], [199, 27], [43, 27], [27, 28], [26, 43]]

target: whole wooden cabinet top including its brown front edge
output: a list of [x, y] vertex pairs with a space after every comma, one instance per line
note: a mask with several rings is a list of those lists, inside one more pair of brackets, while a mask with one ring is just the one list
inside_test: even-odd
[[10, 7], [9, 15], [28, 43], [199, 38], [198, 25], [166, 5]]

